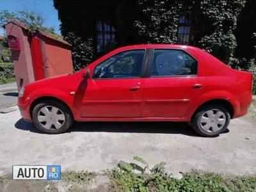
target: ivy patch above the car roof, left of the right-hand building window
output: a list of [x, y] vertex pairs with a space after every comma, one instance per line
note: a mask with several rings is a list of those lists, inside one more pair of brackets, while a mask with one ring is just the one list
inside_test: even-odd
[[135, 20], [138, 33], [150, 44], [175, 44], [182, 3], [180, 1], [139, 1], [142, 15]]

